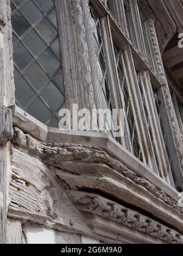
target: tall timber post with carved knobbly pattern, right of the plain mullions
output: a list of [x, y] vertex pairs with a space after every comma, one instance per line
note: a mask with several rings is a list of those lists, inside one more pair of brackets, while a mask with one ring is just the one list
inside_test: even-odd
[[169, 153], [174, 176], [176, 177], [176, 186], [179, 191], [183, 191], [183, 145], [179, 124], [176, 119], [176, 113], [174, 111], [173, 101], [163, 67], [154, 21], [152, 19], [147, 20], [145, 26], [146, 30], [149, 31], [148, 42], [149, 48], [151, 48], [151, 57], [156, 64], [157, 76], [162, 82], [162, 87], [157, 92], [157, 96], [161, 102], [160, 114], [162, 117], [162, 126], [167, 137], [167, 147], [170, 148]]

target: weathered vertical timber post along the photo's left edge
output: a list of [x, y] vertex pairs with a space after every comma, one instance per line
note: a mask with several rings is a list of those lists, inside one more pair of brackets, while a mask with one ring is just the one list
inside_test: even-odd
[[15, 105], [10, 16], [10, 1], [0, 0], [0, 244], [7, 243], [9, 142], [13, 136], [12, 108]]

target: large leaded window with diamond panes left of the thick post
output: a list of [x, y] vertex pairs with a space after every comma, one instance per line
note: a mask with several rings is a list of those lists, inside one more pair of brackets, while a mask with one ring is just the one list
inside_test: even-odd
[[48, 126], [65, 101], [55, 3], [11, 0], [16, 104]]

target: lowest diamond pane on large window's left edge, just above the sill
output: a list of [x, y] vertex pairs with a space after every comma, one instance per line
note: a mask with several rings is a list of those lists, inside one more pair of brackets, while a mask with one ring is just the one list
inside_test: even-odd
[[25, 107], [34, 97], [34, 91], [29, 87], [29, 84], [27, 84], [23, 77], [20, 77], [20, 79], [15, 82], [15, 88], [16, 100]]

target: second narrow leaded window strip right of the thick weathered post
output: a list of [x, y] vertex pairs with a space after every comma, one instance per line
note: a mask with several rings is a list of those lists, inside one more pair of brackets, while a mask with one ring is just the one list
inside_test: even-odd
[[126, 78], [123, 70], [123, 62], [122, 62], [122, 52], [118, 49], [117, 45], [113, 43], [115, 50], [115, 57], [118, 68], [118, 76], [120, 79], [120, 87], [121, 87], [121, 95], [123, 98], [123, 106], [126, 113], [126, 127], [125, 127], [125, 136], [127, 137], [128, 145], [127, 149], [131, 151], [131, 153], [136, 156], [138, 159], [143, 161], [142, 159], [142, 151], [140, 150], [140, 145], [138, 143], [138, 135], [137, 128], [135, 126], [134, 114], [132, 111], [131, 100], [129, 97], [129, 92], [127, 89]]

